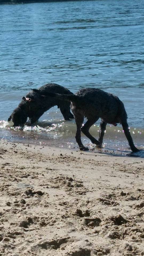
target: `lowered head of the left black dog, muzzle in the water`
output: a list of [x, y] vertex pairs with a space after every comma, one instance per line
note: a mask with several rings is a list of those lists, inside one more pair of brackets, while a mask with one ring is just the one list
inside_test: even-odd
[[13, 113], [10, 115], [7, 121], [9, 122], [10, 120], [13, 122], [13, 127], [23, 126], [27, 121], [27, 116], [21, 108], [17, 107], [14, 109]]

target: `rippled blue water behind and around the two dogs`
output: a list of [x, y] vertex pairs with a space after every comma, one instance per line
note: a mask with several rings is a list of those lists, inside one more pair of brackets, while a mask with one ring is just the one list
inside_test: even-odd
[[[55, 82], [73, 93], [95, 87], [118, 95], [134, 143], [143, 149], [143, 15], [139, 0], [0, 5], [1, 139], [78, 148], [74, 121], [64, 121], [56, 107], [23, 130], [7, 123], [31, 88]], [[98, 126], [91, 128], [95, 137]], [[104, 143], [105, 150], [130, 152], [121, 126], [108, 125]]]

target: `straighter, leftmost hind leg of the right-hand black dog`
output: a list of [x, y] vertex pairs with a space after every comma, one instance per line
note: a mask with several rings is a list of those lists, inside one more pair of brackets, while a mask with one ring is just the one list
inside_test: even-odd
[[81, 127], [82, 127], [82, 123], [84, 120], [84, 116], [83, 115], [75, 115], [75, 122], [77, 125], [77, 132], [75, 135], [75, 139], [76, 142], [78, 143], [79, 149], [80, 150], [89, 150], [88, 147], [84, 147], [81, 141]]

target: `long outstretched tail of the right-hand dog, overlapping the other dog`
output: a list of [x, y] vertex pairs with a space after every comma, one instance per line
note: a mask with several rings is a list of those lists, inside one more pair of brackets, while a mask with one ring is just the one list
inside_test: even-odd
[[75, 94], [59, 94], [59, 93], [50, 93], [50, 92], [46, 92], [46, 91], [41, 91], [41, 90], [37, 90], [37, 89], [31, 89], [32, 91], [34, 91], [35, 93], [38, 93], [42, 96], [50, 96], [50, 97], [54, 97], [56, 99], [60, 99], [62, 101], [71, 101], [74, 102], [75, 100], [77, 100], [79, 98], [79, 96], [75, 95]]

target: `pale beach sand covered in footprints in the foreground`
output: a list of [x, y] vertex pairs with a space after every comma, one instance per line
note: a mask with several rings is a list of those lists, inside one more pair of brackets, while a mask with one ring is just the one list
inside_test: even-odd
[[143, 158], [0, 143], [0, 255], [144, 255]]

